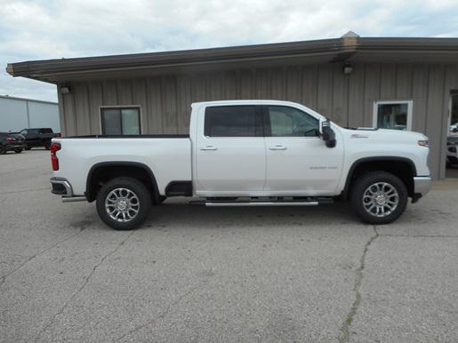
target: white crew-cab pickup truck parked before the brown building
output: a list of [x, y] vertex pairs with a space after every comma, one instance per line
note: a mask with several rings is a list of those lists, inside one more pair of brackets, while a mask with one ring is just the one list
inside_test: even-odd
[[300, 104], [192, 104], [189, 135], [52, 140], [52, 193], [96, 201], [109, 227], [132, 229], [169, 196], [206, 206], [298, 206], [349, 200], [386, 224], [430, 190], [428, 139], [344, 129]]

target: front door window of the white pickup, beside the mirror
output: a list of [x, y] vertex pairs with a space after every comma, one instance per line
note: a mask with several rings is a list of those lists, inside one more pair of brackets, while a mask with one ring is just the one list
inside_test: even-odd
[[316, 137], [319, 135], [317, 118], [296, 108], [269, 106], [272, 137]]

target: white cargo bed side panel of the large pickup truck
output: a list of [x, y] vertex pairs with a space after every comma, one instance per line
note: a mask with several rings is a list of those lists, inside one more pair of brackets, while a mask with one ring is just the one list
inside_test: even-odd
[[189, 135], [81, 136], [54, 141], [66, 149], [54, 177], [71, 179], [73, 196], [85, 195], [87, 179], [80, 176], [91, 176], [101, 166], [146, 165], [154, 171], [161, 195], [172, 181], [192, 179]]

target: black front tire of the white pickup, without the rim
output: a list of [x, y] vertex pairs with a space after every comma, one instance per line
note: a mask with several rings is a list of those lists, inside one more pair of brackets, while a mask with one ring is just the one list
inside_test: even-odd
[[[389, 207], [384, 207], [385, 205], [377, 205], [376, 203], [374, 203], [375, 199], [370, 200], [370, 197], [368, 195], [366, 195], [365, 197], [366, 192], [369, 191], [369, 187], [377, 183], [386, 183], [390, 185], [390, 187], [394, 188], [396, 192], [398, 192], [398, 204], [392, 211], [390, 211]], [[390, 189], [390, 187], [387, 186], [387, 188], [385, 189]], [[371, 189], [371, 191], [373, 190], [374, 188]], [[396, 195], [392, 196], [393, 197], [386, 198], [390, 201], [396, 202]], [[365, 198], [366, 201], [364, 200]], [[383, 201], [383, 199], [384, 197], [382, 197], [381, 201]], [[358, 214], [358, 217], [360, 219], [362, 219], [368, 224], [388, 224], [391, 221], [398, 219], [400, 215], [406, 210], [407, 200], [408, 193], [406, 185], [401, 179], [391, 174], [390, 172], [368, 172], [355, 180], [350, 191], [350, 203], [353, 207], [353, 210]], [[382, 217], [379, 217], [376, 213], [372, 212], [374, 211], [374, 208], [371, 210], [371, 212], [366, 211], [365, 204], [366, 207], [371, 207], [372, 204], [374, 204], [375, 207], [382, 207], [381, 211], [387, 210], [388, 214], [383, 214]], [[386, 206], [392, 205], [387, 203]], [[378, 212], [379, 210], [375, 208], [375, 211]]]

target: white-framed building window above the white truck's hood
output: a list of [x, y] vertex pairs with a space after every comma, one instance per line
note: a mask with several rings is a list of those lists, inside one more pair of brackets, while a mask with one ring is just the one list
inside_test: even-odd
[[392, 130], [412, 130], [412, 100], [375, 101], [374, 127]]

